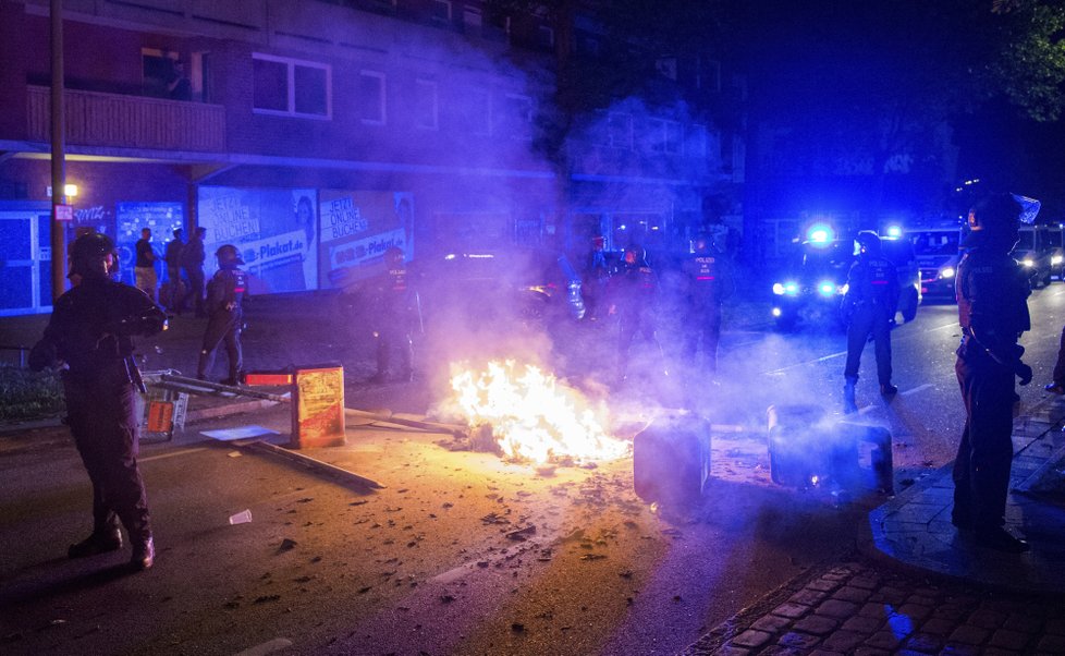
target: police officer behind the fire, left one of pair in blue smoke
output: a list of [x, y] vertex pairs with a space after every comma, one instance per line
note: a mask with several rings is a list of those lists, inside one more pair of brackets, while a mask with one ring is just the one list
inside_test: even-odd
[[647, 264], [646, 251], [638, 244], [626, 247], [621, 267], [607, 287], [609, 312], [617, 317], [619, 379], [625, 378], [628, 350], [637, 333], [652, 342], [661, 354], [652, 317], [657, 289], [658, 278]]

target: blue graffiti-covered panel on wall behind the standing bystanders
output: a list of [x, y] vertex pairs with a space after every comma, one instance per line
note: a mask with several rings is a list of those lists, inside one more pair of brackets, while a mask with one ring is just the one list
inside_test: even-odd
[[[93, 224], [82, 221], [75, 212], [78, 227]], [[135, 284], [133, 267], [136, 262], [136, 243], [140, 231], [151, 230], [151, 248], [156, 256], [156, 276], [162, 279], [166, 265], [162, 262], [167, 242], [174, 239], [174, 230], [185, 227], [184, 205], [172, 202], [119, 203], [114, 211], [114, 245], [119, 251], [119, 278], [127, 284]], [[98, 230], [98, 228], [97, 228]]]

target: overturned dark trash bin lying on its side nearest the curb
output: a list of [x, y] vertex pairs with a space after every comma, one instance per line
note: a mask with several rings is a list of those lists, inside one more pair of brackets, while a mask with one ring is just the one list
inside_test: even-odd
[[818, 405], [772, 405], [769, 464], [774, 483], [815, 487], [831, 482], [894, 494], [891, 434], [882, 426], [836, 422]]

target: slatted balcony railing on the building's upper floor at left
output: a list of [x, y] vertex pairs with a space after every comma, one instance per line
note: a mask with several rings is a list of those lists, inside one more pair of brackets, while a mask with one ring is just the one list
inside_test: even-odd
[[[30, 86], [29, 138], [51, 138], [51, 89]], [[66, 143], [84, 146], [192, 150], [225, 149], [225, 108], [98, 92], [64, 92]]]

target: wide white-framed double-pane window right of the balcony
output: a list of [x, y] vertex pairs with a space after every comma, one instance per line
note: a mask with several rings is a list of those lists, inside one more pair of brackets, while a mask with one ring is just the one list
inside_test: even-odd
[[330, 117], [328, 65], [258, 52], [252, 54], [252, 65], [257, 113]]

